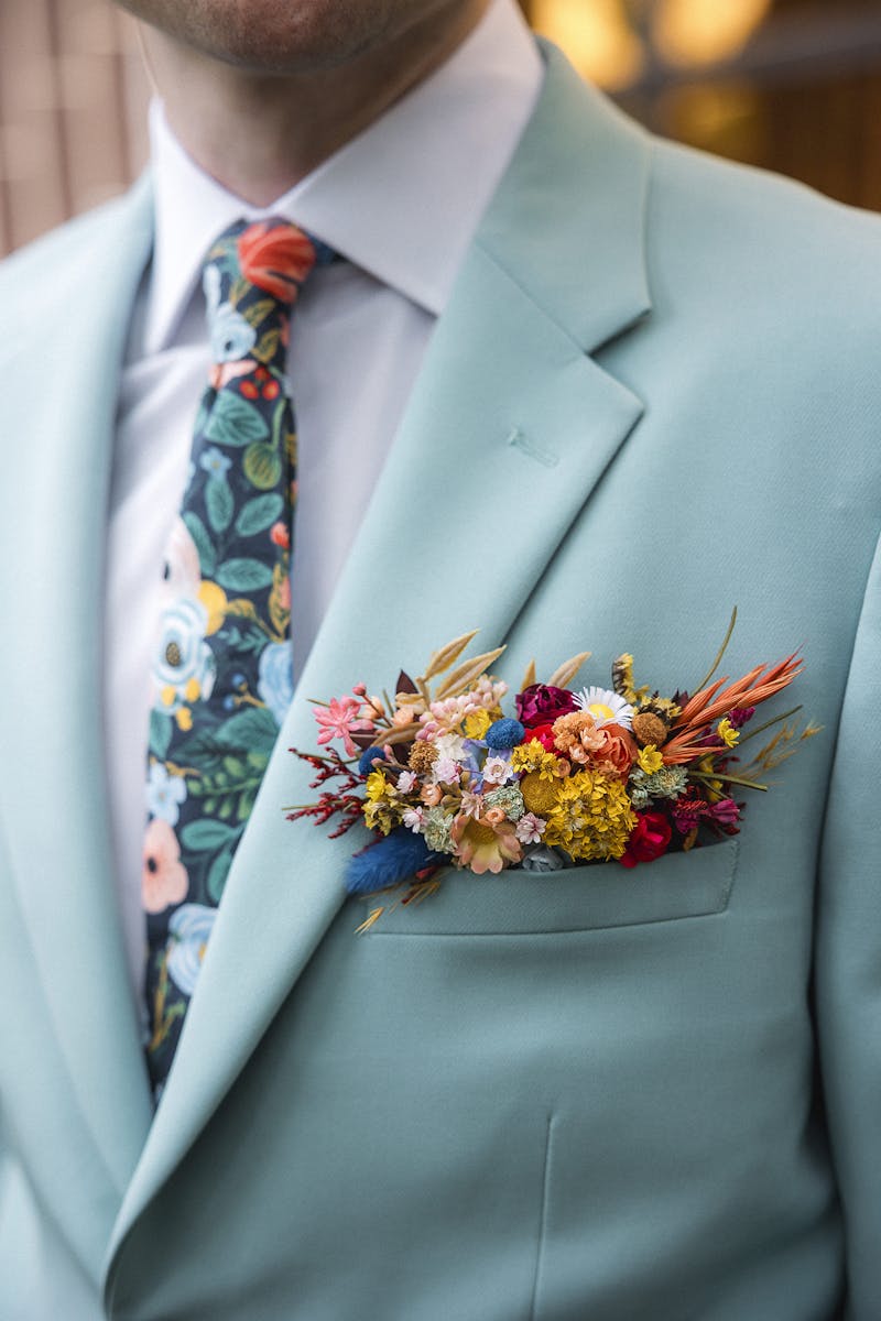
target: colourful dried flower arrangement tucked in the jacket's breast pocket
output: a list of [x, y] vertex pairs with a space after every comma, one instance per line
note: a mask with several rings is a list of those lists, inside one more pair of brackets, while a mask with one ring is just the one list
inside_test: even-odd
[[[531, 663], [515, 715], [502, 707], [507, 684], [490, 674], [503, 649], [462, 659], [476, 633], [462, 634], [419, 678], [402, 671], [394, 699], [358, 683], [316, 703], [318, 744], [342, 753], [291, 749], [322, 793], [285, 808], [288, 819], [337, 819], [333, 836], [363, 822], [374, 840], [351, 859], [346, 889], [405, 882], [403, 902], [424, 898], [448, 867], [477, 876], [608, 860], [630, 868], [737, 834], [738, 791], [766, 790], [762, 778], [819, 729], [793, 724], [795, 707], [745, 732], [802, 662], [790, 655], [713, 680], [736, 617], [693, 694], [635, 687], [629, 654], [613, 663], [610, 688], [575, 688], [589, 657], [580, 653], [546, 683]], [[744, 762], [762, 733], [769, 738]]]

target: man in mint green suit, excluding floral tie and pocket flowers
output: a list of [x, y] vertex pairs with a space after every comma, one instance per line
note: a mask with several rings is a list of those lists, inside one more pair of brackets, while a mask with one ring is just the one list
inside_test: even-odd
[[[872, 1321], [878, 221], [654, 141], [509, 0], [131, 8], [152, 194], [0, 276], [0, 1312]], [[264, 215], [335, 254], [291, 325], [299, 683], [153, 1112], [157, 567], [202, 259]], [[283, 812], [310, 697], [477, 625], [512, 683], [626, 649], [670, 691], [733, 604], [725, 668], [800, 646], [824, 725], [736, 839], [354, 934], [351, 836]]]

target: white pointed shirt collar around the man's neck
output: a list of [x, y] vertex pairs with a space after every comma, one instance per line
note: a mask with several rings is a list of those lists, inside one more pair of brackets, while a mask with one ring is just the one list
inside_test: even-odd
[[440, 316], [542, 85], [514, 0], [493, 0], [429, 78], [271, 206], [229, 193], [151, 107], [156, 242], [145, 349], [157, 353], [199, 283], [211, 242], [244, 218], [285, 215], [341, 256]]

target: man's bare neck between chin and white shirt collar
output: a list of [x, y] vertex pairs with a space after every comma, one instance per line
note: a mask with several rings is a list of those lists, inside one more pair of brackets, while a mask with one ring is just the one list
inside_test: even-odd
[[144, 55], [168, 122], [189, 156], [229, 192], [268, 206], [437, 69], [487, 0], [432, 15], [380, 49], [295, 75], [255, 74], [155, 28]]

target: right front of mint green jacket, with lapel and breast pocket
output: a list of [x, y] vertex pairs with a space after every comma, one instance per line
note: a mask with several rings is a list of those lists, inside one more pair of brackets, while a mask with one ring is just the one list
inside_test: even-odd
[[[482, 621], [507, 634], [514, 682], [532, 654], [547, 672], [588, 646], [590, 682], [626, 647], [638, 678], [688, 684], [736, 601], [726, 668], [802, 642], [799, 696], [828, 741], [753, 798], [736, 843], [630, 875], [456, 876], [355, 938], [363, 906], [337, 911], [335, 897], [350, 841], [276, 815], [297, 793], [284, 749], [312, 737], [301, 703], [118, 1222], [111, 1316], [820, 1321], [840, 1299], [836, 1177], [812, 1091], [812, 877], [877, 534], [877, 384], [863, 351], [877, 222], [662, 148], [646, 231], [655, 308], [601, 347], [645, 310], [631, 248], [604, 273], [612, 235], [642, 242], [630, 218], [645, 189], [625, 205], [626, 189], [593, 186], [602, 205], [588, 218], [581, 181], [629, 157], [645, 182], [642, 153], [564, 74], [549, 83], [592, 125], [539, 190], [560, 251], [535, 232], [536, 190], [503, 185], [309, 695], [387, 686]], [[592, 156], [600, 139], [609, 152]], [[535, 250], [553, 252], [544, 277], [511, 260], [527, 218]], [[824, 284], [815, 252], [845, 252], [843, 227], [848, 256]], [[619, 271], [633, 297], [613, 316]], [[460, 425], [445, 450], [432, 417], [450, 402]], [[848, 452], [837, 464], [833, 443]], [[485, 449], [469, 470], [479, 446], [498, 446], [498, 462], [483, 469]], [[378, 594], [420, 453], [436, 490], [458, 477], [461, 501], [416, 515], [403, 503], [412, 553], [398, 596]], [[450, 542], [445, 577], [427, 548]], [[836, 985], [843, 1032], [851, 1011], [865, 1021], [870, 991]], [[851, 1118], [872, 1132], [853, 1108], [841, 1127]], [[864, 1268], [856, 1317], [872, 1316], [870, 1287]]]

